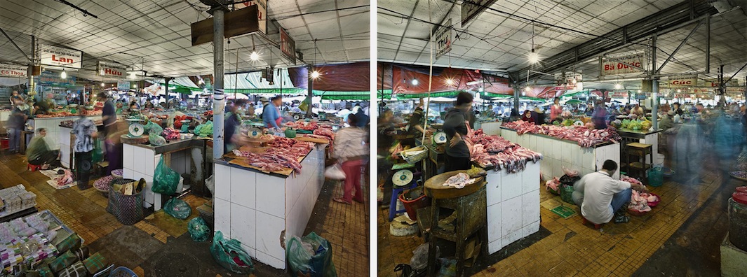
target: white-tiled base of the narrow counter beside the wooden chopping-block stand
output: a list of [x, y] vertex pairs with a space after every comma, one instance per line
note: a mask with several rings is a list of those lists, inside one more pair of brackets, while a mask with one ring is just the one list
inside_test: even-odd
[[524, 171], [517, 173], [486, 169], [490, 254], [539, 231], [541, 162], [527, 162]]

